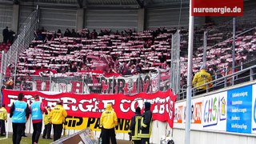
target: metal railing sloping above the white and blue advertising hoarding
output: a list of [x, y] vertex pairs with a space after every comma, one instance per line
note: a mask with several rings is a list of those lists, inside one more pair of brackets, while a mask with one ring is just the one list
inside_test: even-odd
[[[249, 74], [248, 74], [249, 73]], [[213, 90], [219, 90], [222, 88], [226, 88], [228, 86], [234, 86], [243, 82], [251, 82], [256, 79], [256, 65], [250, 66], [246, 69], [239, 70], [233, 74], [226, 75], [222, 78], [215, 79], [211, 82], [206, 82], [201, 86], [206, 86], [206, 92], [210, 92]], [[232, 82], [234, 81], [234, 82]], [[209, 87], [210, 84], [213, 84], [212, 87]], [[192, 88], [192, 96], [197, 95], [198, 88], [201, 86], [194, 86]], [[182, 91], [178, 94], [178, 100], [186, 98], [186, 88], [183, 87]]]

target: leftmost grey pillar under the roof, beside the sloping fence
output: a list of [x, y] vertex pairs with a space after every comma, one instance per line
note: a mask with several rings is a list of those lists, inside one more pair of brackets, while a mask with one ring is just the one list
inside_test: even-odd
[[18, 34], [19, 5], [13, 5], [13, 15], [11, 21], [11, 30]]

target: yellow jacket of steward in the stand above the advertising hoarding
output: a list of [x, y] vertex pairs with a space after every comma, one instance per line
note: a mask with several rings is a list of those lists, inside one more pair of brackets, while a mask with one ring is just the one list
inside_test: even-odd
[[[206, 90], [206, 85], [202, 86], [203, 84], [207, 82], [211, 82], [213, 79], [211, 78], [210, 74], [206, 72], [206, 70], [202, 69], [197, 74], [194, 75], [192, 84], [193, 86], [197, 86], [198, 90]], [[199, 87], [198, 87], [199, 86]], [[212, 83], [208, 85], [208, 88], [213, 86]]]

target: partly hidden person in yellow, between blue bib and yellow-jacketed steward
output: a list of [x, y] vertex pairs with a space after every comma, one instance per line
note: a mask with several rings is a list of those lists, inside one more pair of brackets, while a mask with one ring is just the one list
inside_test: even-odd
[[47, 134], [47, 139], [52, 139], [50, 138], [50, 131], [51, 131], [50, 106], [47, 106], [46, 110], [47, 110], [47, 113], [43, 114], [43, 123], [45, 125], [45, 129], [43, 130], [42, 138], [46, 138], [46, 134]]

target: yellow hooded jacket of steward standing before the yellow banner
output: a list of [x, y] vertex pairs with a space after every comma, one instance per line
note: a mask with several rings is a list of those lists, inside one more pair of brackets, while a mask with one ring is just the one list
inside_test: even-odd
[[100, 126], [103, 126], [104, 129], [112, 129], [114, 126], [118, 126], [117, 114], [115, 114], [110, 104], [106, 105], [106, 110], [102, 113]]

